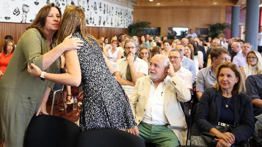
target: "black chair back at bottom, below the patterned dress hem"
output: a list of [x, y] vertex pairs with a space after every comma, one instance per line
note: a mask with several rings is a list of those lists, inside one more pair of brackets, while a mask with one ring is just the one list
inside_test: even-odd
[[80, 134], [78, 147], [145, 147], [144, 141], [118, 129], [90, 129]]

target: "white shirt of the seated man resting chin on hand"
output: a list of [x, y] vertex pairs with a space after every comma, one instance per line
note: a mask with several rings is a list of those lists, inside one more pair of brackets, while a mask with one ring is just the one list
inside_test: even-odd
[[[137, 57], [133, 63], [134, 63], [136, 72], [141, 72], [141, 73], [144, 73], [145, 75], [148, 75], [148, 64], [146, 63], [146, 61]], [[119, 71], [122, 76], [122, 79], [124, 80], [127, 80], [126, 78], [127, 65], [128, 65], [128, 62], [126, 58], [122, 58], [116, 61], [115, 72]], [[134, 90], [134, 86], [122, 85], [122, 87], [124, 91], [126, 92], [127, 96], [130, 97], [130, 95], [132, 94]]]

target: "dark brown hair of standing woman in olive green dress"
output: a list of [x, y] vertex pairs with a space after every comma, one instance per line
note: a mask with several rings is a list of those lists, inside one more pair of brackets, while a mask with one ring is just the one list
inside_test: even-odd
[[[54, 3], [47, 4], [39, 10], [37, 15], [35, 16], [35, 20], [33, 21], [33, 23], [30, 26], [26, 28], [26, 30], [31, 29], [31, 28], [36, 28], [38, 29], [38, 31], [40, 31], [40, 34], [42, 35], [42, 37], [46, 39], [46, 33], [44, 30], [44, 26], [46, 24], [46, 17], [50, 13], [52, 7], [57, 8], [57, 10], [59, 11], [59, 15], [62, 16], [61, 10], [57, 6], [55, 6]], [[58, 31], [54, 33], [53, 40], [57, 39], [57, 33]]]

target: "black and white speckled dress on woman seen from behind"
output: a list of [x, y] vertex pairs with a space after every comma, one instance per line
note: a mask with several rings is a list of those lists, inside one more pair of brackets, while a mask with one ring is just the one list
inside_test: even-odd
[[134, 128], [135, 118], [127, 96], [107, 67], [98, 43], [87, 37], [91, 46], [78, 31], [72, 37], [84, 41], [84, 46], [77, 50], [84, 87], [80, 129]]

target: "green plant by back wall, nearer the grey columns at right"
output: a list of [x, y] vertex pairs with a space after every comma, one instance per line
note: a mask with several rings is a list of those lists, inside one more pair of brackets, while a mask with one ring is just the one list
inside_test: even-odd
[[210, 26], [208, 35], [211, 36], [212, 38], [216, 38], [219, 35], [220, 31], [222, 31], [225, 34], [226, 33], [225, 29], [226, 28], [230, 29], [229, 23], [208, 24], [208, 26]]

